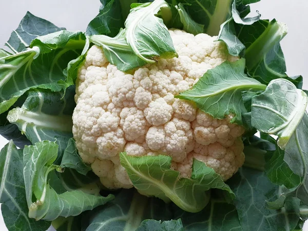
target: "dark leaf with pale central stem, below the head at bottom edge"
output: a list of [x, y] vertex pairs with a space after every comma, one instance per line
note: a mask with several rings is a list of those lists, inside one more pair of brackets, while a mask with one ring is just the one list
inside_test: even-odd
[[133, 189], [122, 189], [113, 201], [85, 213], [83, 219], [83, 230], [87, 231], [136, 230], [143, 220], [171, 220], [172, 214], [160, 199], [142, 196]]

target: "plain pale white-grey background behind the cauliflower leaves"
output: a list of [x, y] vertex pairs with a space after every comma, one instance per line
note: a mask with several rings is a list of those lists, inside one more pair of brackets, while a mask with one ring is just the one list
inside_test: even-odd
[[[16, 29], [18, 23], [27, 11], [45, 18], [59, 27], [68, 30], [85, 31], [88, 22], [99, 10], [99, 0], [1, 0], [0, 14], [0, 47], [8, 40], [10, 33]], [[263, 18], [284, 22], [289, 30], [281, 42], [287, 64], [287, 74], [303, 75], [304, 88], [308, 89], [308, 32], [306, 30], [308, 1], [306, 0], [263, 0], [252, 6], [252, 10], [262, 14]], [[0, 148], [7, 140], [0, 136]], [[304, 231], [308, 231], [308, 225]], [[0, 230], [6, 231], [0, 216]], [[26, 230], [25, 230], [26, 231]]]

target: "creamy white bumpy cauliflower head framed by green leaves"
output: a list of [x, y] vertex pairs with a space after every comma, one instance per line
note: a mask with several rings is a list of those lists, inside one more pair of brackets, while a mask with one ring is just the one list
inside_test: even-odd
[[237, 57], [207, 34], [169, 30], [179, 57], [148, 64], [125, 74], [92, 46], [76, 81], [73, 135], [80, 156], [108, 188], [132, 184], [120, 164], [127, 155], [172, 157], [172, 169], [190, 177], [192, 159], [203, 161], [224, 180], [244, 162], [244, 129], [232, 117], [213, 119], [174, 95], [190, 89], [201, 76]]

